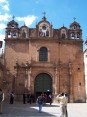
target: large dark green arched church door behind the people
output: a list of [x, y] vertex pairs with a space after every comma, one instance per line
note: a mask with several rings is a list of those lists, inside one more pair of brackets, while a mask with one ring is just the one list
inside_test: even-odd
[[35, 96], [45, 93], [47, 96], [52, 94], [52, 78], [47, 73], [40, 73], [36, 76], [34, 82]]

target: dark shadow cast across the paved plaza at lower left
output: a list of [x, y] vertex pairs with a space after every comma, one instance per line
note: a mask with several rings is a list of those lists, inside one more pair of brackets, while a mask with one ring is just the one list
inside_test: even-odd
[[[49, 109], [49, 107], [58, 107], [58, 105], [46, 104], [43, 108]], [[42, 108], [42, 110], [43, 110]], [[9, 104], [8, 102], [3, 103], [3, 113], [0, 117], [51, 117], [54, 116], [49, 112], [38, 112], [38, 104], [23, 104], [22, 102], [14, 102], [14, 104]]]

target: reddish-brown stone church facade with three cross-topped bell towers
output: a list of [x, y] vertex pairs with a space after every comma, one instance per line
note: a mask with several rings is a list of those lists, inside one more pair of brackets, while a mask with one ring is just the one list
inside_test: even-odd
[[52, 94], [54, 100], [64, 92], [69, 102], [86, 101], [82, 29], [75, 20], [54, 29], [45, 15], [35, 28], [19, 27], [13, 18], [5, 32], [4, 64], [7, 92]]

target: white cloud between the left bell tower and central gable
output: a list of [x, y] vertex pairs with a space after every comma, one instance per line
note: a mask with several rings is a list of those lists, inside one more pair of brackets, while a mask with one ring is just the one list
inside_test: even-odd
[[25, 22], [26, 26], [30, 26], [35, 20], [36, 20], [36, 16], [27, 16], [27, 17], [17, 17], [16, 19], [18, 21], [23, 21]]

